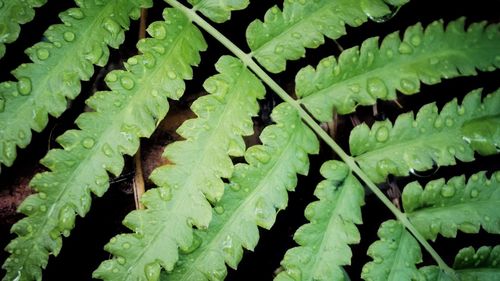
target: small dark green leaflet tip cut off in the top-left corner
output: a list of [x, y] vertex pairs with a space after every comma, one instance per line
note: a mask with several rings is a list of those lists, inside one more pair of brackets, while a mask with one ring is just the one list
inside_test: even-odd
[[16, 41], [21, 32], [20, 24], [35, 17], [34, 8], [41, 7], [47, 0], [23, 0], [0, 2], [0, 58], [5, 55], [5, 44]]

